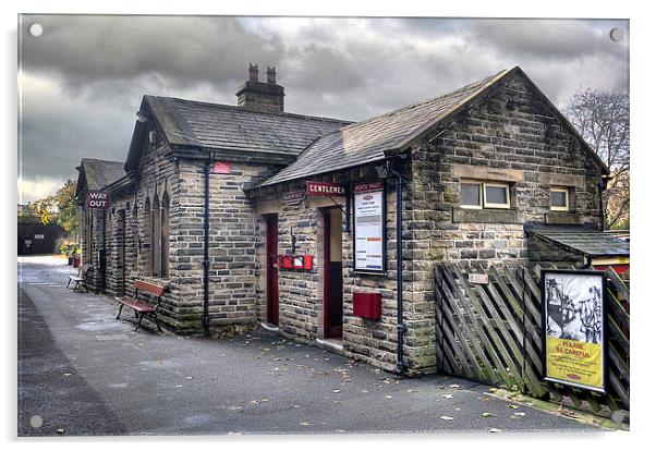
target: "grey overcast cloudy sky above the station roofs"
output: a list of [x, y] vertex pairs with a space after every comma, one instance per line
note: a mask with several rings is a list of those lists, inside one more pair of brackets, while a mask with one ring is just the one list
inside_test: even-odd
[[276, 66], [287, 111], [355, 121], [514, 65], [559, 107], [629, 88], [625, 21], [24, 15], [19, 33], [23, 203], [82, 157], [124, 160], [144, 94], [235, 105], [248, 62]]

